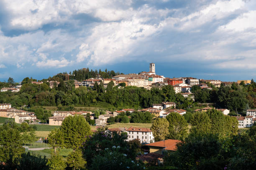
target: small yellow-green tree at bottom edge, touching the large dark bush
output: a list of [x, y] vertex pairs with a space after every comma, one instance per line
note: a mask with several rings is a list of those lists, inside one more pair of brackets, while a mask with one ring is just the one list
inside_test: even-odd
[[73, 170], [83, 168], [86, 165], [86, 161], [82, 156], [81, 150], [70, 153], [67, 157], [67, 166]]

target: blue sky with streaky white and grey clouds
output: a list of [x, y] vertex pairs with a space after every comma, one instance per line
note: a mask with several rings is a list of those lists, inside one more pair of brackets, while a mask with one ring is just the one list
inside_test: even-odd
[[256, 0], [1, 0], [0, 81], [83, 67], [256, 80]]

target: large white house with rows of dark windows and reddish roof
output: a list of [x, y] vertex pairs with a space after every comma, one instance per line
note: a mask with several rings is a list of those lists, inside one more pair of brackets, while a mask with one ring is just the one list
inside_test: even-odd
[[154, 142], [154, 136], [149, 128], [135, 128], [130, 127], [127, 129], [128, 141], [138, 139], [141, 143]]

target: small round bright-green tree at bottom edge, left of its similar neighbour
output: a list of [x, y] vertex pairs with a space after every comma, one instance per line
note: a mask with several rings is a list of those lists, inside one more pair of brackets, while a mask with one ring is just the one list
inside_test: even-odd
[[51, 158], [48, 159], [47, 164], [49, 170], [64, 170], [67, 165], [59, 154], [51, 154]]

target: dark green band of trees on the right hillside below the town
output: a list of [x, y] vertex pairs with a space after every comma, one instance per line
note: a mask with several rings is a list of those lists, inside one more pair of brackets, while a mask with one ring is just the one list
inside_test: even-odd
[[251, 80], [251, 84], [233, 83], [230, 86], [221, 84], [219, 88], [212, 90], [200, 89], [198, 86], [192, 87], [195, 92], [195, 102], [216, 103], [218, 108], [237, 110], [243, 112], [249, 108], [256, 108], [256, 82]]

